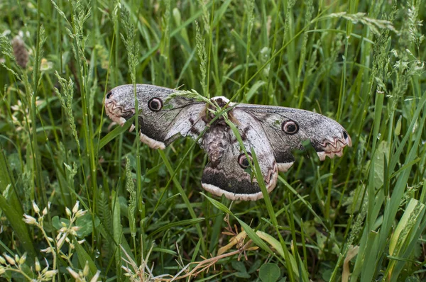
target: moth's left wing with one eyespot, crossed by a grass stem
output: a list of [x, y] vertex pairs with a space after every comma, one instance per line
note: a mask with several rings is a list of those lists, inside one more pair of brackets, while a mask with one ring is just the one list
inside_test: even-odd
[[[206, 123], [205, 103], [173, 97], [173, 89], [136, 84], [138, 126], [141, 141], [154, 149], [164, 149], [179, 136], [196, 138]], [[105, 108], [109, 118], [121, 125], [135, 114], [133, 85], [117, 86], [107, 94]]]

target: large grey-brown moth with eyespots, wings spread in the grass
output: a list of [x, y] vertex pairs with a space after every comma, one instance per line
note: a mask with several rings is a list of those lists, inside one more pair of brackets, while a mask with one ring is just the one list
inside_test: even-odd
[[[174, 89], [136, 84], [138, 134], [141, 142], [163, 150], [176, 138], [198, 139], [209, 162], [202, 174], [202, 187], [217, 196], [254, 201], [262, 198], [261, 188], [249, 171], [256, 153], [268, 193], [275, 188], [278, 171], [287, 171], [295, 162], [292, 151], [303, 150], [310, 140], [321, 160], [342, 156], [351, 146], [351, 137], [336, 121], [310, 111], [280, 106], [230, 103], [225, 97], [206, 103], [175, 95]], [[172, 95], [173, 94], [173, 95]], [[224, 114], [216, 116], [214, 107], [227, 110], [226, 117], [236, 125], [240, 141]], [[124, 125], [135, 115], [133, 84], [117, 86], [107, 93], [105, 109], [111, 120]], [[215, 119], [216, 118], [216, 119]], [[131, 126], [131, 130], [134, 125]], [[241, 140], [247, 154], [241, 148]]]

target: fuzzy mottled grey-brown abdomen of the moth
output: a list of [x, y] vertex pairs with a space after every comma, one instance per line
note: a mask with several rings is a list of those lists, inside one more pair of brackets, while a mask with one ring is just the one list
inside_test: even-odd
[[228, 126], [214, 124], [204, 135], [203, 147], [209, 155], [210, 164], [216, 167], [229, 144]]

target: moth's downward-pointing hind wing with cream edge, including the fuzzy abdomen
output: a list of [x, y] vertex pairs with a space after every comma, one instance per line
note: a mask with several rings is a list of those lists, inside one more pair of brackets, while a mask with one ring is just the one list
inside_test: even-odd
[[209, 154], [209, 163], [202, 175], [202, 187], [207, 191], [233, 200], [257, 200], [263, 197], [256, 178], [249, 171], [251, 149], [256, 152], [263, 181], [268, 192], [275, 188], [278, 167], [273, 148], [268, 143], [261, 125], [250, 114], [233, 114], [246, 154], [227, 125], [212, 125], [204, 135], [202, 147]]

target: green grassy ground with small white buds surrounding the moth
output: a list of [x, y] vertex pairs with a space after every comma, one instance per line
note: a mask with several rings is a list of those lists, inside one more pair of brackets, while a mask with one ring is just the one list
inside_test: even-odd
[[[0, 2], [2, 277], [425, 279], [425, 1], [141, 2]], [[353, 147], [231, 203], [193, 140], [110, 126], [132, 82], [317, 111]]]

